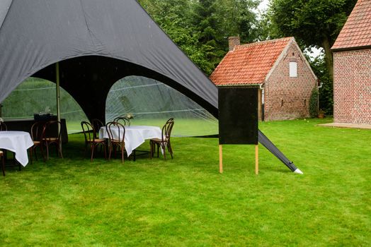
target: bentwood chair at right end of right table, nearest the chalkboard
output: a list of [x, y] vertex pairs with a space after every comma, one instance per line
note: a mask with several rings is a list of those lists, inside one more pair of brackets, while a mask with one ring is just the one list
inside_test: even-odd
[[159, 138], [153, 138], [149, 140], [149, 145], [151, 145], [151, 159], [154, 156], [154, 149], [157, 145], [157, 157], [159, 157], [159, 147], [164, 151], [164, 159], [166, 159], [166, 151], [165, 147], [168, 148], [168, 151], [170, 152], [171, 159], [173, 159], [173, 149], [171, 148], [171, 143], [170, 143], [170, 135], [171, 135], [171, 130], [173, 129], [174, 125], [174, 119], [169, 119], [166, 121], [164, 127], [162, 127], [162, 133], [161, 133], [161, 139]]

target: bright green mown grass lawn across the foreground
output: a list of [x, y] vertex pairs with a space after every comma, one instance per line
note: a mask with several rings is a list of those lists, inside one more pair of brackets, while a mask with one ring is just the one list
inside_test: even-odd
[[[371, 246], [371, 131], [261, 123], [304, 175], [260, 145], [173, 138], [174, 159], [64, 159], [0, 177], [0, 246]], [[145, 143], [142, 149], [149, 150]], [[54, 155], [54, 153], [53, 153]]]

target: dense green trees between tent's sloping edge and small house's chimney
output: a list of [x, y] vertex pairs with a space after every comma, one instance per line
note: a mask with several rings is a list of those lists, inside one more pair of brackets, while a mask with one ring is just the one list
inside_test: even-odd
[[210, 75], [228, 52], [228, 37], [256, 40], [260, 0], [139, 0], [183, 52]]

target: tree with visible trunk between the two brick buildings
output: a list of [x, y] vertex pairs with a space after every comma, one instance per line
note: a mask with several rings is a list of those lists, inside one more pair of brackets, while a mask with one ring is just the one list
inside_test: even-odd
[[[333, 80], [331, 47], [357, 0], [272, 0], [268, 18], [272, 30], [294, 36], [304, 47], [322, 47]], [[275, 34], [277, 35], [277, 34]]]

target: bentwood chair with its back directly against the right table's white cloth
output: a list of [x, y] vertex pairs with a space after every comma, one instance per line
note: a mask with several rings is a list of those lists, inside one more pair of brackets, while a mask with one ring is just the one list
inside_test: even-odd
[[[108, 160], [110, 160], [110, 155], [112, 151], [116, 155], [116, 150], [120, 148], [121, 151], [121, 159], [122, 164], [124, 163], [124, 155], [125, 155], [125, 126], [123, 126], [121, 123], [118, 122], [109, 122], [105, 125], [105, 131], [108, 133], [109, 138], [109, 148], [108, 148]], [[116, 132], [117, 131], [117, 132]], [[116, 138], [116, 135], [114, 133], [118, 133]]]

